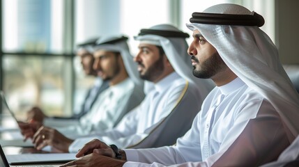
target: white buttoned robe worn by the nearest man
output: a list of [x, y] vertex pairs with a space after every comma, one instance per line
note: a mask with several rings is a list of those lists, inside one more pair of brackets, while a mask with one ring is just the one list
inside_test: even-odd
[[[209, 111], [221, 94], [215, 113]], [[288, 145], [277, 111], [237, 78], [212, 90], [176, 145], [127, 149], [124, 166], [257, 166], [277, 159]]]

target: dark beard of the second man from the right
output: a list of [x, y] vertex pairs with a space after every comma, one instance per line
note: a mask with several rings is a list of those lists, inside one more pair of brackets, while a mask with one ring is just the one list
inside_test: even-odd
[[[143, 66], [141, 63], [139, 65]], [[144, 66], [143, 66], [144, 67]], [[140, 73], [140, 78], [144, 79], [146, 81], [155, 81], [157, 77], [162, 74], [164, 70], [164, 65], [163, 65], [163, 56], [160, 55], [160, 58], [153, 63], [148, 69], [144, 72], [144, 74]]]

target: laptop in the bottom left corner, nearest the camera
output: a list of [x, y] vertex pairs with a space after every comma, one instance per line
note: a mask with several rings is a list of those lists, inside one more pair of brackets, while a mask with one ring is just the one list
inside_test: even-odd
[[[20, 154], [22, 155], [22, 154]], [[8, 163], [8, 160], [6, 158], [6, 155], [4, 154], [3, 152], [3, 149], [0, 145], [0, 156], [1, 156], [1, 159], [0, 159], [0, 166], [1, 167], [58, 167], [58, 166], [61, 166], [62, 164], [66, 163], [66, 161], [61, 161], [61, 162], [45, 162], [45, 163], [41, 163], [41, 164], [36, 164], [36, 163], [30, 163], [29, 162], [26, 162], [24, 164], [9, 164]], [[70, 160], [68, 160], [70, 161]], [[47, 164], [46, 164], [47, 163]], [[49, 164], [50, 163], [50, 164]]]

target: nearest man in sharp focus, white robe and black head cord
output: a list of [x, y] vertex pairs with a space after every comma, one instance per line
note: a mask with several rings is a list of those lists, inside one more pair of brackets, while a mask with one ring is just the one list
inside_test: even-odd
[[162, 148], [91, 141], [77, 153], [88, 155], [64, 166], [261, 166], [290, 145], [299, 132], [299, 97], [259, 29], [263, 17], [224, 3], [193, 13], [190, 22], [193, 74], [216, 84], [190, 131]]

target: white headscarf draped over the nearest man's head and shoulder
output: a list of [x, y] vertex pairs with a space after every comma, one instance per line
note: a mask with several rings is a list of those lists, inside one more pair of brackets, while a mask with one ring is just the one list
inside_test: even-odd
[[[212, 6], [204, 13], [254, 15], [236, 4]], [[247, 86], [269, 100], [282, 117], [290, 132], [289, 139], [293, 141], [299, 133], [299, 96], [279, 61], [277, 48], [258, 26], [233, 25], [202, 22], [187, 24], [187, 27], [192, 31], [198, 29], [228, 67]]]

